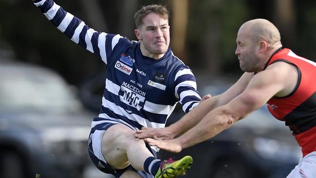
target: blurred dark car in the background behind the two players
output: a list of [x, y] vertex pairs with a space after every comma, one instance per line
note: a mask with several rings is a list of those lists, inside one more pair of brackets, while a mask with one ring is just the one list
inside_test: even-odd
[[[210, 77], [195, 73], [199, 94], [218, 95], [237, 81], [235, 77]], [[97, 111], [101, 105], [106, 73], [88, 78], [80, 89], [84, 104]], [[179, 104], [166, 126], [184, 115]], [[275, 119], [265, 106], [249, 114], [214, 138], [184, 149], [180, 153], [158, 152], [158, 158], [193, 157], [185, 178], [285, 178], [298, 164], [300, 147], [283, 122]]]

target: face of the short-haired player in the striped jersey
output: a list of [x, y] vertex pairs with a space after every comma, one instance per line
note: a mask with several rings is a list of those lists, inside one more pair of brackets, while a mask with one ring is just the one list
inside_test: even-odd
[[156, 13], [150, 13], [142, 20], [140, 29], [135, 30], [140, 40], [141, 53], [155, 59], [161, 58], [170, 43], [170, 26], [168, 20]]

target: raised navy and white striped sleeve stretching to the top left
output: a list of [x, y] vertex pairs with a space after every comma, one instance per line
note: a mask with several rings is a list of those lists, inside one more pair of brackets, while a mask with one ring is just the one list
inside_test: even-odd
[[53, 0], [35, 0], [34, 4], [58, 30], [73, 42], [101, 57], [105, 64], [113, 48], [123, 39], [120, 35], [97, 32], [89, 28], [84, 21], [63, 10]]

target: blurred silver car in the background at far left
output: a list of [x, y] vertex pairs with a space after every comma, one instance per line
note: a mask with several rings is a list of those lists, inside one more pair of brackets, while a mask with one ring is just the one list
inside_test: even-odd
[[0, 178], [83, 178], [92, 118], [57, 73], [0, 62]]

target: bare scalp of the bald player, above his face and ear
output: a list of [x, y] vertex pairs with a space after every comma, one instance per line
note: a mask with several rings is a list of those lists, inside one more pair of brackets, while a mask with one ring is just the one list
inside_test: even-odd
[[249, 20], [240, 27], [239, 31], [247, 33], [254, 42], [264, 40], [269, 46], [278, 46], [278, 48], [282, 46], [278, 28], [266, 19]]

